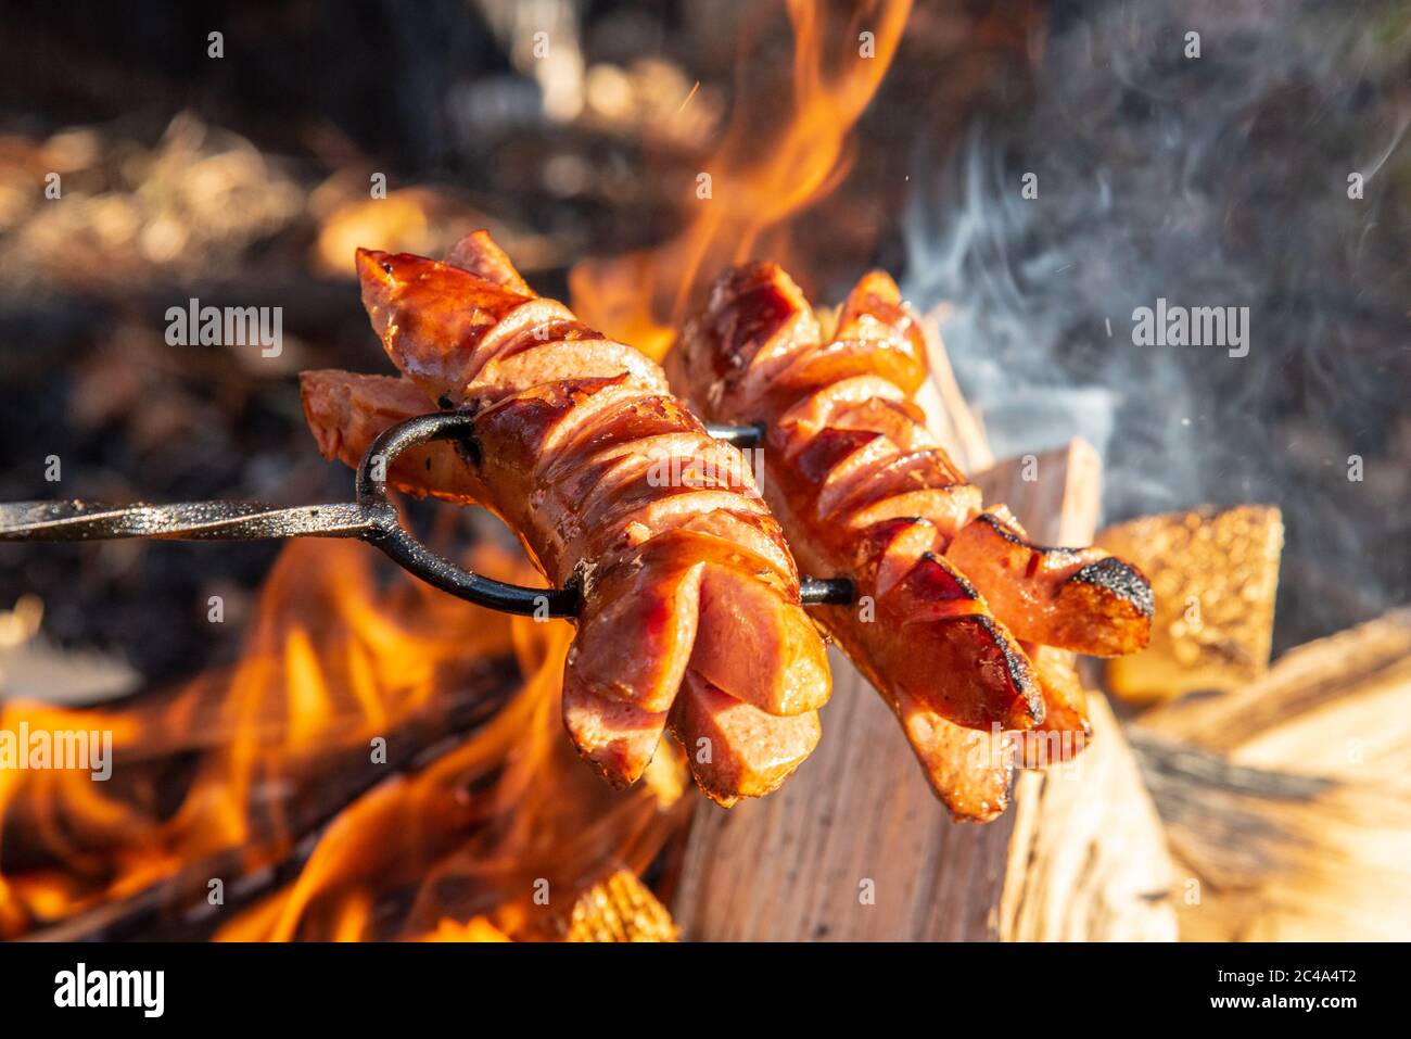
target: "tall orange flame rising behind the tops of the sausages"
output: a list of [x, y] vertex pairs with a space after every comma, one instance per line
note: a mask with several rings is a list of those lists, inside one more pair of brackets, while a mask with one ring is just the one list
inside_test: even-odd
[[756, 251], [789, 265], [787, 222], [847, 176], [852, 127], [892, 64], [910, 7], [910, 0], [858, 4], [838, 25], [827, 4], [789, 0], [792, 119], [761, 126], [776, 117], [772, 96], [737, 103], [696, 181], [697, 209], [686, 229], [656, 248], [577, 264], [569, 288], [579, 316], [660, 360], [703, 278]]

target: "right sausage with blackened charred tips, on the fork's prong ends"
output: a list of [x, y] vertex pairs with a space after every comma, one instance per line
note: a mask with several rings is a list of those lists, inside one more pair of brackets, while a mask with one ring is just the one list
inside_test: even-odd
[[1007, 510], [983, 511], [912, 401], [926, 364], [886, 274], [864, 277], [824, 336], [789, 275], [752, 264], [715, 284], [667, 373], [708, 419], [765, 426], [763, 491], [799, 563], [858, 587], [821, 618], [951, 812], [989, 819], [1016, 731], [1086, 726], [1067, 658], [1036, 668], [1019, 639], [1140, 648], [1150, 589], [1106, 553], [1030, 545]]

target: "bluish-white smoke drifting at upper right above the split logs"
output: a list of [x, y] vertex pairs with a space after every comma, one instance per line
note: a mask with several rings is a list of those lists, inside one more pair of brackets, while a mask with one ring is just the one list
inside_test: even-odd
[[[1006, 90], [1033, 100], [976, 116], [944, 161], [921, 145], [904, 213], [903, 289], [947, 306], [996, 455], [1089, 439], [1110, 520], [1283, 505], [1280, 610], [1300, 637], [1411, 583], [1405, 510], [1346, 479], [1355, 450], [1407, 464], [1407, 223], [1388, 191], [1411, 172], [1407, 113], [1374, 89], [1411, 51], [1379, 21], [1393, 10], [1057, 3]], [[1134, 346], [1133, 311], [1158, 298], [1249, 306], [1249, 356]], [[1370, 551], [1387, 543], [1394, 562]]]

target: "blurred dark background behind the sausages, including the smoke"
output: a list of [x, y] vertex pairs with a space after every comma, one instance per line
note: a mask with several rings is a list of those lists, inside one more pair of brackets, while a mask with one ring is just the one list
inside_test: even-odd
[[[827, 47], [883, 17], [849, 7], [818, 4], [849, 27]], [[792, 54], [785, 6], [742, 0], [13, 0], [0, 498], [59, 496], [48, 456], [62, 497], [346, 497], [296, 373], [385, 370], [356, 246], [435, 254], [485, 226], [536, 288], [648, 336], [643, 305], [669, 326], [744, 241], [820, 301], [893, 271], [941, 308], [996, 452], [1089, 438], [1110, 521], [1281, 505], [1276, 652], [1407, 601], [1405, 3], [917, 3], [823, 155], [780, 117]], [[746, 202], [748, 234], [704, 236], [622, 309], [614, 258]], [[282, 306], [284, 352], [166, 346], [190, 296]], [[1158, 296], [1249, 306], [1249, 356], [1132, 346], [1133, 308]], [[0, 608], [34, 596], [55, 644], [171, 679], [233, 656], [275, 552], [4, 546]]]

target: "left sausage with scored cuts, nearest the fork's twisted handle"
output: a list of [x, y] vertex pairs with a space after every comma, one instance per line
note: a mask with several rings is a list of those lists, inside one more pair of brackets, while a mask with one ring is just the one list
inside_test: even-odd
[[305, 412], [353, 464], [435, 402], [464, 443], [405, 453], [389, 479], [497, 512], [583, 608], [563, 680], [580, 752], [634, 782], [663, 728], [722, 803], [769, 793], [818, 740], [830, 692], [799, 576], [739, 453], [711, 439], [643, 354], [535, 296], [480, 232], [449, 263], [358, 251], [363, 301], [404, 378], [315, 371]]

